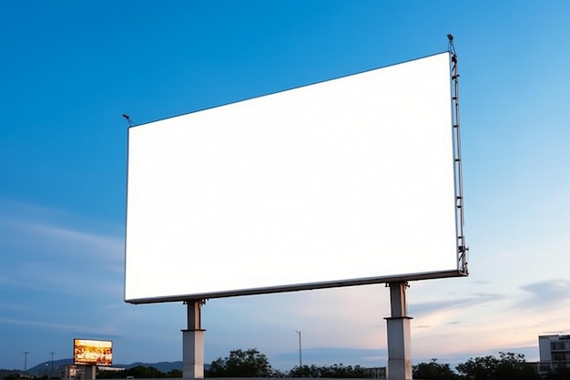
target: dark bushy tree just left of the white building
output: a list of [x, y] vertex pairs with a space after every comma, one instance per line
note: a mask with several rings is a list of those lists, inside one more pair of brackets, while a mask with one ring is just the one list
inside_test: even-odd
[[499, 353], [499, 357], [484, 356], [457, 365], [457, 371], [467, 380], [535, 380], [540, 376], [526, 364], [524, 354]]

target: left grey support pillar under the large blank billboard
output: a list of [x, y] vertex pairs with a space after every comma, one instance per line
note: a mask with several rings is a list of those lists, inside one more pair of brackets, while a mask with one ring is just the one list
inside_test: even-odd
[[182, 377], [204, 378], [204, 332], [200, 326], [200, 312], [203, 300], [187, 303], [188, 328], [182, 330]]

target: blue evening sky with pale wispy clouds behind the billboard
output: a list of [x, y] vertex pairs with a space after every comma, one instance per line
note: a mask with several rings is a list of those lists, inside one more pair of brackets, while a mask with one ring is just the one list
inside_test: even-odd
[[[179, 303], [123, 302], [127, 113], [138, 124], [382, 67], [460, 58], [468, 278], [412, 282], [414, 362], [570, 333], [570, 4], [5, 1], [0, 12], [0, 367], [111, 339], [181, 359]], [[382, 285], [211, 300], [206, 361], [386, 365]]]

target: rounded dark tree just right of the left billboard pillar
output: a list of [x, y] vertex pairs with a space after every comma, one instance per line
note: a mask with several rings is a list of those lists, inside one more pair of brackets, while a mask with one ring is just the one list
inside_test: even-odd
[[255, 348], [234, 350], [229, 357], [214, 360], [209, 365], [208, 377], [270, 377], [273, 374], [267, 356]]

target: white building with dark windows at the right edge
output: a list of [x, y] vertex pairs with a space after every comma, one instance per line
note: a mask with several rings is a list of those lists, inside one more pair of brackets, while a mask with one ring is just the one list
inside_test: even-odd
[[558, 368], [570, 368], [570, 335], [540, 335], [538, 351], [540, 374]]

